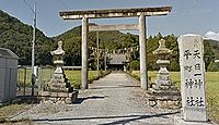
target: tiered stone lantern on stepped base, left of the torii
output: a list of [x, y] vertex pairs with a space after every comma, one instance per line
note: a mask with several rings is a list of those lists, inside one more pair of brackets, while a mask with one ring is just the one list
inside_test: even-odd
[[58, 49], [50, 53], [55, 58], [56, 70], [45, 89], [39, 91], [41, 99], [43, 102], [50, 100], [54, 103], [71, 103], [76, 100], [78, 91], [73, 90], [62, 70], [65, 55], [62, 41], [59, 41]]

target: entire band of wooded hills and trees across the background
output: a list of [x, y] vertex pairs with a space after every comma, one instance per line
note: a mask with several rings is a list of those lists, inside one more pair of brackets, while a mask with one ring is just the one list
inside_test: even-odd
[[[90, 24], [95, 25], [95, 24]], [[19, 64], [31, 65], [31, 50], [32, 50], [32, 26], [23, 24], [15, 17], [10, 16], [5, 12], [0, 11], [0, 47], [11, 49], [19, 55]], [[124, 48], [139, 47], [137, 35], [124, 34], [118, 30], [100, 32], [100, 49], [115, 50]], [[148, 38], [148, 70], [157, 70], [157, 57], [152, 54], [159, 43], [158, 41], [163, 38], [166, 40], [166, 47], [173, 50], [171, 58], [170, 70], [178, 71], [178, 48], [177, 36], [168, 35], [150, 36]], [[53, 38], [46, 37], [43, 32], [36, 29], [36, 65], [51, 64], [50, 51], [57, 48], [57, 41], [64, 41], [64, 50], [66, 51], [65, 63], [66, 65], [81, 65], [81, 26], [77, 26], [66, 33]], [[205, 40], [205, 63], [206, 68], [210, 62], [219, 59], [219, 42], [214, 40]], [[96, 48], [96, 33], [89, 32], [89, 53], [91, 54]], [[139, 51], [130, 52], [130, 61], [139, 61]], [[90, 67], [95, 70], [96, 58], [89, 59]], [[100, 58], [101, 67], [103, 68], [103, 55]]]

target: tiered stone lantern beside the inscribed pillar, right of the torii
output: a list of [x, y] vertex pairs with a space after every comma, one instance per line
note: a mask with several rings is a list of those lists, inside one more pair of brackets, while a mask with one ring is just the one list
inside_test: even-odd
[[170, 64], [170, 55], [172, 50], [165, 48], [165, 40], [159, 40], [159, 48], [153, 51], [153, 54], [158, 57], [157, 64], [159, 71], [157, 79], [151, 84], [151, 87], [147, 91], [148, 102], [152, 107], [159, 108], [180, 108], [181, 93], [176, 89], [175, 84], [171, 80], [168, 71]]

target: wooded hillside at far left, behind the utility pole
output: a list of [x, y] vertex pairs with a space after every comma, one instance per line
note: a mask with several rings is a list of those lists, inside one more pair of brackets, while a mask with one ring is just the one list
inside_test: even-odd
[[[33, 28], [0, 10], [0, 47], [18, 54], [19, 63], [31, 65]], [[36, 29], [36, 64], [50, 64], [53, 39]]]

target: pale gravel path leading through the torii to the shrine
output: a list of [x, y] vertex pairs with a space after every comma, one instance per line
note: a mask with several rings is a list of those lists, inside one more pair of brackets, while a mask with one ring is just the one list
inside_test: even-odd
[[124, 73], [112, 73], [80, 90], [73, 104], [46, 102], [34, 105], [12, 120], [33, 120], [34, 124], [151, 125], [173, 124], [175, 110], [147, 105], [139, 84]]

